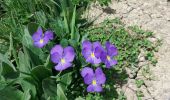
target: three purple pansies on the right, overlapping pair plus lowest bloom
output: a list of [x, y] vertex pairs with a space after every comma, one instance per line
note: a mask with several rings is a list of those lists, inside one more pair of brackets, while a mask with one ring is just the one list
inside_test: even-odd
[[[82, 55], [86, 62], [91, 64], [103, 62], [106, 68], [111, 68], [117, 64], [117, 61], [113, 59], [117, 54], [117, 48], [110, 42], [106, 42], [105, 48], [101, 46], [100, 42], [91, 43], [90, 41], [84, 41], [82, 44]], [[98, 67], [94, 73], [93, 69], [85, 67], [81, 71], [81, 76], [84, 79], [84, 83], [88, 85], [87, 92], [102, 91], [102, 85], [105, 84], [106, 77], [101, 68]]]

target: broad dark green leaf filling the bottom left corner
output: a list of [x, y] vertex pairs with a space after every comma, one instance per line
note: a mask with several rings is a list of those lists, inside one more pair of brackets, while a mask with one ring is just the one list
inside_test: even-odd
[[23, 93], [15, 88], [6, 87], [0, 90], [1, 100], [23, 100]]

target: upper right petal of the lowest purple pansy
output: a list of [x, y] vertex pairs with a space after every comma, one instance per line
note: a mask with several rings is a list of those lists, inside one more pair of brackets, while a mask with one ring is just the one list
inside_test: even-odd
[[95, 76], [96, 76], [97, 84], [104, 84], [106, 82], [106, 76], [101, 68], [97, 68], [95, 70]]

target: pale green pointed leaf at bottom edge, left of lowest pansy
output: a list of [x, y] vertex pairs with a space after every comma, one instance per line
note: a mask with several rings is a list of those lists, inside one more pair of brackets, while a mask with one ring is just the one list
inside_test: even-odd
[[67, 97], [65, 96], [60, 84], [57, 84], [57, 100], [67, 100]]

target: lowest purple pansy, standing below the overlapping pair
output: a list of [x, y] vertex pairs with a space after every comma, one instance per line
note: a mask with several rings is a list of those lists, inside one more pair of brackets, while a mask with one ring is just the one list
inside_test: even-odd
[[102, 85], [106, 82], [105, 74], [101, 68], [97, 68], [95, 72], [89, 67], [85, 67], [81, 71], [84, 83], [88, 85], [87, 92], [102, 92]]

